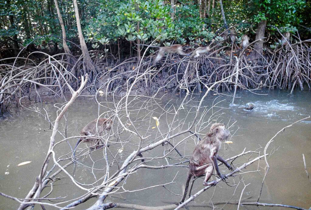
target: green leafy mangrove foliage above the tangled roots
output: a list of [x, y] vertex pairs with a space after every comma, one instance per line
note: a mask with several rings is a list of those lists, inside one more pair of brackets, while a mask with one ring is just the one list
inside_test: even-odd
[[[182, 2], [182, 3], [180, 3]], [[180, 1], [175, 5], [174, 20], [171, 18], [170, 1], [160, 0], [78, 0], [80, 21], [85, 40], [89, 47], [107, 48], [117, 40], [150, 43], [157, 38], [164, 43], [206, 45], [215, 38], [215, 32], [224, 25], [219, 1], [210, 10], [210, 16], [200, 13], [194, 2]], [[198, 2], [198, 1], [197, 1]], [[238, 34], [251, 33], [250, 24], [267, 20], [267, 25], [281, 28], [281, 32], [299, 29], [299, 25], [310, 27], [310, 2], [303, 0], [259, 0], [223, 1], [225, 16], [229, 26], [234, 26]], [[65, 24], [67, 39], [78, 42], [76, 17], [72, 0], [58, 0]], [[201, 17], [200, 17], [201, 15]], [[13, 17], [13, 18], [12, 18]], [[243, 24], [241, 24], [243, 23]], [[255, 26], [256, 27], [256, 26]], [[269, 30], [275, 30], [269, 28]], [[218, 32], [218, 35], [220, 32]], [[41, 35], [62, 37], [54, 1], [14, 0], [0, 2], [1, 46], [13, 46], [17, 36], [19, 46], [26, 46]], [[16, 35], [16, 36], [15, 36]], [[35, 40], [35, 45], [48, 49], [57, 43], [62, 48], [62, 40], [43, 37]], [[71, 44], [68, 42], [69, 47]], [[134, 45], [132, 45], [134, 46]]]

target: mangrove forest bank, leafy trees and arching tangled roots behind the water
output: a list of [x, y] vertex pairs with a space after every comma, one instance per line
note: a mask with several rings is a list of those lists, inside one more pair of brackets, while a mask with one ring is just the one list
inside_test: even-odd
[[[120, 94], [132, 75], [148, 69], [154, 70], [137, 91], [183, 91], [183, 82], [202, 91], [236, 71], [237, 80], [232, 76], [216, 90], [230, 91], [235, 80], [240, 88], [290, 93], [310, 88], [309, 10], [310, 2], [302, 0], [5, 1], [0, 7], [0, 107], [3, 112], [26, 95], [64, 97], [65, 84], [77, 87], [86, 73], [87, 91]], [[250, 44], [241, 48], [243, 34]], [[199, 46], [211, 50], [199, 58], [169, 54], [154, 65], [157, 48], [141, 45], [150, 43], [182, 44], [190, 54]]]

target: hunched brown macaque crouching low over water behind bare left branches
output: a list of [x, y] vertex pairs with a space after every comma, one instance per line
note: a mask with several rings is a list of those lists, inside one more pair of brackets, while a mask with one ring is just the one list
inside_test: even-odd
[[[111, 129], [113, 122], [111, 119], [108, 119], [108, 118], [98, 119], [98, 123], [97, 123], [98, 132], [96, 132], [96, 123], [97, 123], [97, 118], [91, 121], [89, 124], [87, 124], [84, 128], [82, 128], [81, 136], [90, 136], [90, 135], [101, 136], [105, 130], [109, 131]], [[86, 145], [90, 147], [90, 150], [100, 148], [100, 142], [101, 142], [100, 139], [91, 138], [91, 137], [81, 137], [77, 141], [77, 144], [75, 146], [72, 156], [75, 156], [76, 149], [81, 141], [86, 143]]]

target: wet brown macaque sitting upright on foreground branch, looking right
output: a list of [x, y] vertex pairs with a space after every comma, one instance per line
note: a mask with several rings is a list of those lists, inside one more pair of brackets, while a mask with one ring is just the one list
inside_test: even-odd
[[210, 131], [197, 144], [190, 158], [185, 192], [180, 203], [183, 203], [186, 198], [192, 176], [201, 176], [205, 174], [205, 179], [203, 181], [204, 186], [216, 185], [215, 181], [207, 182], [211, 178], [214, 169], [222, 180], [227, 178], [220, 173], [217, 160], [225, 164], [230, 170], [233, 170], [227, 161], [217, 154], [221, 143], [228, 139], [229, 134], [230, 132], [225, 129], [224, 124], [214, 123], [211, 125]]

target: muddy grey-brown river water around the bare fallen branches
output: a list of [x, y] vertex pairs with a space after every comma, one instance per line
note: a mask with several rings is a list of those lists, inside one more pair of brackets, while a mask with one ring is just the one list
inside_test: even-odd
[[[223, 110], [223, 122], [228, 123], [229, 119], [237, 120], [234, 129], [239, 127], [238, 132], [231, 140], [228, 150], [221, 151], [221, 155], [230, 157], [237, 155], [246, 148], [248, 150], [256, 150], [264, 147], [266, 143], [283, 127], [310, 115], [311, 94], [309, 91], [296, 91], [293, 95], [288, 95], [287, 91], [267, 91], [262, 90], [257, 93], [268, 95], [255, 95], [251, 92], [238, 91], [235, 100], [235, 106], [229, 106], [230, 98], [221, 97], [217, 100], [221, 102], [221, 106], [229, 109]], [[163, 103], [173, 98], [174, 103], [178, 103], [179, 97], [167, 94], [163, 97]], [[199, 97], [198, 97], [199, 98]], [[204, 105], [210, 106], [216, 96], [209, 96], [205, 100]], [[104, 99], [103, 99], [104, 100]], [[245, 111], [239, 107], [243, 107], [246, 103], [251, 102], [255, 105], [252, 111]], [[172, 102], [173, 103], [173, 102]], [[51, 99], [48, 103], [30, 104], [27, 107], [39, 111], [45, 108], [53, 119], [55, 119], [54, 102]], [[187, 109], [187, 107], [186, 107]], [[104, 110], [101, 110], [104, 111]], [[77, 131], [89, 121], [97, 117], [97, 104], [94, 100], [79, 99], [68, 110], [68, 136], [77, 135]], [[64, 128], [64, 122], [61, 123]], [[49, 138], [51, 132], [44, 131], [49, 128], [49, 124], [42, 116], [26, 109], [14, 110], [0, 120], [0, 191], [7, 195], [17, 198], [24, 198], [35, 182], [35, 177], [39, 174], [42, 162], [46, 156], [49, 147]], [[60, 140], [61, 137], [58, 136]], [[70, 140], [70, 144], [75, 144], [74, 139]], [[190, 154], [193, 151], [194, 143], [191, 141], [183, 148], [183, 152]], [[118, 149], [118, 148], [115, 148]], [[70, 151], [67, 143], [58, 148], [58, 152], [66, 154]], [[262, 149], [258, 150], [261, 151]], [[157, 155], [163, 155], [163, 149], [155, 150], [159, 152]], [[302, 154], [304, 154], [307, 164], [307, 170], [311, 175], [311, 119], [306, 119], [293, 125], [281, 132], [269, 147], [268, 152], [274, 152], [268, 159], [270, 171], [264, 183], [261, 199], [262, 203], [282, 203], [288, 205], [299, 206], [302, 208], [310, 208], [311, 206], [311, 183], [307, 178], [304, 170]], [[104, 161], [100, 153], [94, 153], [93, 158]], [[247, 160], [249, 156], [238, 158], [235, 164]], [[31, 161], [30, 164], [17, 166], [17, 164]], [[87, 162], [87, 160], [85, 160]], [[98, 167], [102, 167], [98, 163]], [[164, 162], [154, 161], [154, 165], [165, 164]], [[248, 166], [244, 171], [257, 170], [258, 162], [252, 166]], [[259, 162], [260, 172], [243, 174], [245, 184], [249, 184], [244, 190], [242, 198], [253, 196], [250, 200], [257, 200], [260, 190], [265, 163], [263, 160]], [[103, 168], [103, 167], [102, 167]], [[225, 168], [221, 169], [222, 173], [228, 173]], [[137, 173], [131, 175], [126, 187], [128, 190], [144, 188], [154, 184], [164, 184], [176, 177], [176, 183], [167, 185], [167, 189], [175, 194], [182, 194], [182, 187], [186, 180], [187, 168], [168, 168], [163, 170], [141, 169]], [[98, 174], [101, 171], [97, 172]], [[71, 180], [66, 178], [64, 174], [59, 177], [63, 179], [56, 182], [53, 186], [53, 193], [49, 197], [65, 197], [65, 200], [76, 198], [82, 195], [77, 186], [72, 184]], [[64, 178], [65, 177], [65, 178]], [[90, 171], [77, 167], [77, 180], [82, 183], [89, 183], [93, 179]], [[233, 180], [229, 178], [228, 180]], [[239, 176], [234, 178], [239, 181]], [[236, 193], [231, 199], [232, 202], [238, 201], [243, 184], [239, 184]], [[202, 180], [197, 180], [193, 186], [193, 193], [202, 189]], [[208, 205], [217, 202], [227, 202], [234, 192], [235, 187], [230, 187], [224, 183], [219, 184], [216, 188], [211, 188], [201, 194], [191, 204], [189, 209], [205, 209]], [[43, 194], [48, 193], [50, 188], [46, 189]], [[180, 196], [171, 194], [163, 187], [151, 188], [134, 193], [115, 194], [115, 197], [107, 198], [108, 201], [119, 203], [133, 203], [146, 206], [162, 206], [174, 203], [180, 200]], [[211, 199], [212, 198], [212, 199]], [[92, 198], [86, 203], [77, 207], [77, 209], [85, 209], [90, 207], [96, 201]], [[218, 207], [222, 207], [218, 205]], [[0, 197], [0, 209], [16, 209], [18, 204], [9, 199]], [[46, 206], [47, 209], [52, 209]], [[236, 209], [237, 205], [226, 205], [224, 209]], [[270, 209], [272, 207], [260, 207], [261, 209]], [[277, 207], [279, 208], [279, 207]], [[40, 209], [36, 205], [35, 209]], [[258, 209], [255, 206], [245, 206], [241, 209]], [[280, 208], [282, 209], [282, 208]]]

